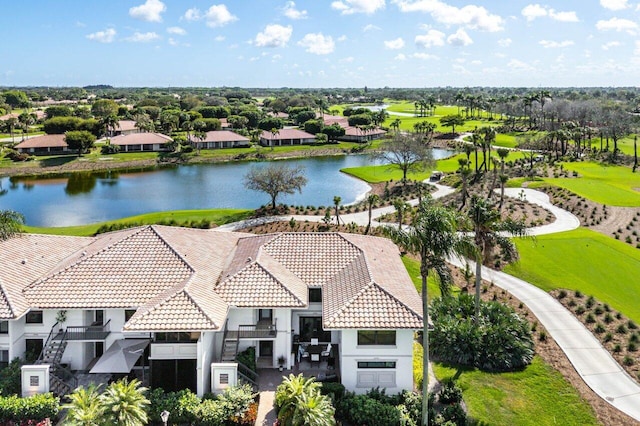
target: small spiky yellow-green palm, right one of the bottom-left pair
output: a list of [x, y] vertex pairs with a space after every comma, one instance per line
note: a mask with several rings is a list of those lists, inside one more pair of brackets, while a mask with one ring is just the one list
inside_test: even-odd
[[127, 379], [111, 383], [100, 396], [105, 406], [108, 424], [122, 426], [140, 426], [147, 424], [146, 407], [150, 404], [145, 397], [147, 388], [140, 386], [140, 381]]

